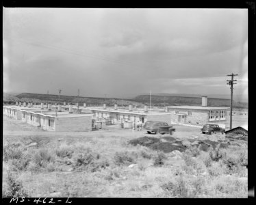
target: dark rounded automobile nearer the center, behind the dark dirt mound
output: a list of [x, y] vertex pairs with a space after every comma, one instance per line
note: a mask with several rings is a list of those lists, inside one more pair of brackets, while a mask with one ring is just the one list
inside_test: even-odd
[[175, 128], [172, 125], [168, 125], [167, 122], [162, 121], [147, 121], [145, 122], [143, 129], [147, 131], [147, 133], [169, 133], [172, 134], [172, 131], [175, 131]]

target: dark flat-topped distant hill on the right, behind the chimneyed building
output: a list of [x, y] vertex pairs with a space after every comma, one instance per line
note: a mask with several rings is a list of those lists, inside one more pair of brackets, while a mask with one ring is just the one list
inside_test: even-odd
[[[145, 105], [149, 105], [150, 96], [149, 95], [140, 95], [131, 99], [136, 102], [144, 103]], [[176, 105], [194, 105], [199, 106], [202, 104], [201, 97], [185, 97], [185, 96], [158, 96], [151, 95], [151, 105], [153, 106], [176, 106]], [[216, 107], [230, 107], [229, 99], [221, 99], [221, 98], [208, 98], [207, 100], [208, 106], [216, 106]], [[234, 108], [246, 109], [248, 108], [248, 103], [246, 102], [233, 102]]]

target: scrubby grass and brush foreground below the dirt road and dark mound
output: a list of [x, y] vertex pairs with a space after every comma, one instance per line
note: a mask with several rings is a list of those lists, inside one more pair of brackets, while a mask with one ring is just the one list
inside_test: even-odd
[[164, 153], [130, 139], [3, 135], [3, 197], [248, 197], [246, 142]]

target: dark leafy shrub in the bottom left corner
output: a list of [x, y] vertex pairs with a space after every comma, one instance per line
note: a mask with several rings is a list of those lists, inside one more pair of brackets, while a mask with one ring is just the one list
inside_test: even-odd
[[7, 184], [6, 190], [3, 191], [3, 197], [29, 197], [21, 181], [17, 180], [10, 172], [8, 173]]

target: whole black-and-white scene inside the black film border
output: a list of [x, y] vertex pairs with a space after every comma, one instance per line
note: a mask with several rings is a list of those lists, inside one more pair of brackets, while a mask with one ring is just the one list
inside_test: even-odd
[[2, 180], [17, 201], [247, 198], [248, 9], [3, 7]]

